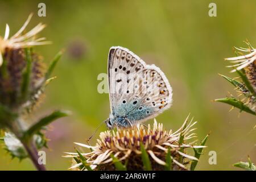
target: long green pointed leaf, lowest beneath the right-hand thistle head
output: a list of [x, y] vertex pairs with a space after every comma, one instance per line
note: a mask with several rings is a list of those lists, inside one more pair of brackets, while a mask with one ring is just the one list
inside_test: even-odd
[[245, 105], [242, 101], [238, 101], [236, 98], [230, 98], [230, 97], [226, 97], [226, 98], [218, 98], [214, 101], [217, 102], [224, 102], [226, 104], [232, 105], [234, 107], [237, 107], [238, 109], [240, 109], [241, 111], [245, 111], [247, 113], [250, 114], [254, 114], [256, 115], [256, 113], [251, 110], [247, 105]]

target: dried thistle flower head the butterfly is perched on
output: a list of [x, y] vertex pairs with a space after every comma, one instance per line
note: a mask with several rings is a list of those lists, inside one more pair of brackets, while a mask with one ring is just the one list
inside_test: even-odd
[[[187, 118], [183, 126], [174, 133], [172, 130], [164, 130], [163, 124], [157, 123], [156, 120], [152, 127], [148, 124], [147, 128], [139, 125], [130, 129], [104, 131], [100, 134], [100, 139], [97, 139], [96, 146], [76, 143], [81, 147], [90, 148], [91, 152], [66, 152], [68, 155], [65, 157], [75, 158], [76, 164], [70, 169], [76, 170], [88, 169], [88, 166], [91, 169], [115, 170], [115, 162], [121, 162], [127, 170], [143, 170], [143, 155], [148, 155], [152, 170], [165, 169], [170, 160], [172, 169], [186, 170], [191, 160], [198, 159], [185, 154], [185, 149], [205, 147], [193, 146], [196, 141], [187, 143], [189, 139], [196, 137], [195, 133], [191, 133], [195, 130], [192, 128], [195, 123], [192, 120], [188, 123]], [[146, 151], [146, 154], [143, 154], [143, 151]], [[83, 158], [85, 160], [82, 160]]]

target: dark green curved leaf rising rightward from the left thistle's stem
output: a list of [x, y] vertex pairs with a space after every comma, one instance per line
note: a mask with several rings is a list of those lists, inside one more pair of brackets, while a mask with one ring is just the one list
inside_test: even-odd
[[38, 122], [36, 122], [34, 125], [30, 127], [24, 134], [24, 139], [31, 138], [32, 135], [34, 135], [36, 132], [40, 131], [42, 127], [49, 125], [49, 123], [55, 121], [58, 118], [65, 117], [69, 112], [67, 111], [54, 111], [52, 114], [47, 115], [47, 117], [44, 117], [40, 119]]

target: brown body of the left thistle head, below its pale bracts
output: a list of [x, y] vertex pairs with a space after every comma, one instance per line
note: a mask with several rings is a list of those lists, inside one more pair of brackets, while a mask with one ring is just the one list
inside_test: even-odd
[[[0, 103], [9, 107], [17, 107], [24, 102], [21, 97], [27, 64], [31, 64], [29, 94], [34, 93], [42, 84], [46, 65], [36, 53], [31, 52], [31, 55], [26, 55], [26, 51], [22, 48], [6, 48], [3, 57], [6, 63], [0, 69]], [[27, 63], [27, 57], [30, 57], [31, 63]]]

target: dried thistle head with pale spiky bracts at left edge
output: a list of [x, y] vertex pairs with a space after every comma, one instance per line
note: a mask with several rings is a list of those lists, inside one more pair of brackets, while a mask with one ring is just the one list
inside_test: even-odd
[[[10, 108], [24, 104], [27, 99], [24, 98], [24, 90], [28, 90], [28, 96], [35, 94], [44, 81], [45, 65], [30, 47], [50, 42], [44, 42], [45, 38], [35, 39], [35, 35], [46, 27], [42, 23], [23, 34], [31, 17], [32, 14], [11, 38], [8, 24], [4, 38], [0, 36], [0, 104]], [[26, 79], [30, 81], [26, 83]]]

